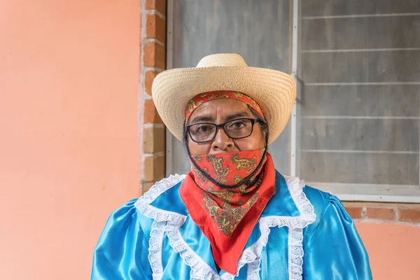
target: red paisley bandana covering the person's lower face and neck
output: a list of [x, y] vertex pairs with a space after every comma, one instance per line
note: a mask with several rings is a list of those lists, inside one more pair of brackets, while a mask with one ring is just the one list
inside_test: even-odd
[[[181, 185], [181, 198], [193, 221], [209, 239], [216, 264], [236, 274], [246, 241], [275, 193], [271, 155], [262, 148], [195, 155], [191, 160], [195, 165], [192, 162], [191, 171]], [[251, 178], [236, 188], [221, 188], [204, 174], [230, 186], [250, 175]]]

